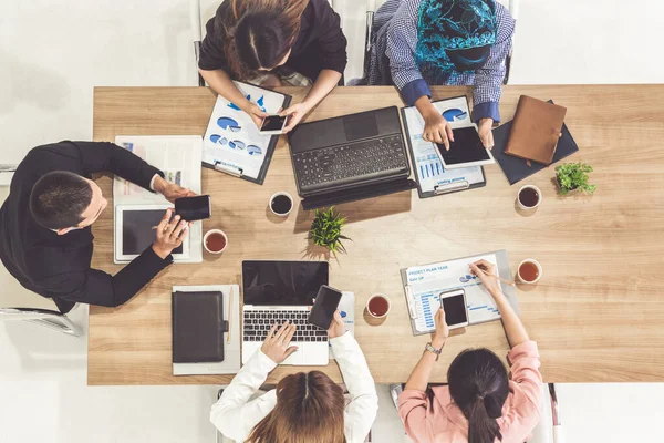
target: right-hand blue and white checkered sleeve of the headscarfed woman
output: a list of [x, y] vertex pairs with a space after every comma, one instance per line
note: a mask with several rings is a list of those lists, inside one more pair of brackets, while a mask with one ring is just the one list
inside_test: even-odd
[[496, 12], [498, 19], [496, 44], [491, 48], [487, 63], [475, 72], [473, 87], [473, 120], [475, 122], [487, 117], [500, 122], [498, 103], [502, 94], [502, 79], [505, 79], [507, 69], [505, 61], [511, 49], [511, 37], [516, 22], [507, 9], [500, 4]]

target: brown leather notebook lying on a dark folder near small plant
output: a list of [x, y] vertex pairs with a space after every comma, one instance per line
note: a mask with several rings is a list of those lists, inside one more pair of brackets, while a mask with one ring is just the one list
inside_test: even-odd
[[551, 164], [567, 107], [521, 95], [505, 153]]

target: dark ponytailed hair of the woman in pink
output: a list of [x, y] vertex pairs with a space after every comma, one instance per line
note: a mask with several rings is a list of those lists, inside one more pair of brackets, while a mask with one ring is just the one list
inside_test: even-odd
[[467, 349], [447, 370], [449, 394], [468, 419], [468, 443], [502, 440], [496, 419], [509, 394], [507, 370], [488, 349]]

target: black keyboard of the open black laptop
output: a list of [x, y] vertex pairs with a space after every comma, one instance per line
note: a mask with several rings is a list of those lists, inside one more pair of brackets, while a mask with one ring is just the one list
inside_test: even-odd
[[407, 171], [401, 134], [293, 154], [301, 188]]

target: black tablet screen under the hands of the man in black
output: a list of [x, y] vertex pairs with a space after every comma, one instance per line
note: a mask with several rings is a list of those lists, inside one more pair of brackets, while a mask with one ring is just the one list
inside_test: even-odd
[[[122, 223], [122, 254], [139, 255], [157, 238], [156, 229], [166, 209], [124, 210]], [[173, 249], [173, 254], [183, 254], [183, 246]]]

